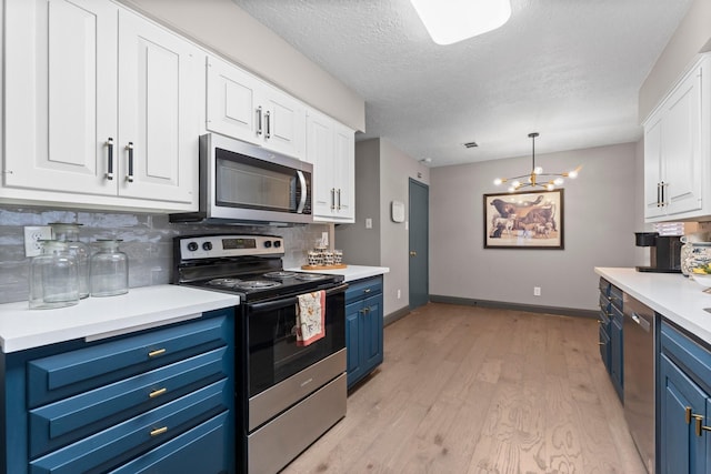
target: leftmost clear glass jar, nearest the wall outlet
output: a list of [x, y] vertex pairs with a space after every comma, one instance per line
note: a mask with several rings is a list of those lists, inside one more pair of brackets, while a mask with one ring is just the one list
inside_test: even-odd
[[79, 271], [67, 242], [41, 241], [42, 253], [30, 263], [30, 309], [48, 310], [79, 303]]

